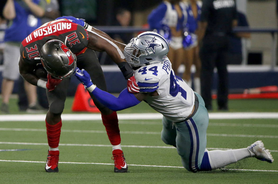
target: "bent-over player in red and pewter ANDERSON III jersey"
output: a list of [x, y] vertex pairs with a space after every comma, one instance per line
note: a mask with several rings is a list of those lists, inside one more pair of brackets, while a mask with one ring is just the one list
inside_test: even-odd
[[[61, 114], [70, 77], [75, 73], [76, 66], [86, 69], [94, 83], [106, 91], [104, 74], [95, 51], [105, 51], [128, 79], [133, 75], [133, 71], [123, 56], [124, 46], [106, 33], [89, 26], [82, 19], [74, 17], [62, 17], [48, 22], [22, 41], [19, 72], [29, 83], [46, 88], [49, 102], [45, 119], [49, 145], [45, 166], [47, 172], [58, 172]], [[48, 72], [47, 81], [39, 79], [33, 73], [39, 63], [42, 63]], [[92, 94], [90, 95], [101, 111], [103, 125], [112, 144], [114, 172], [127, 172], [128, 167], [120, 145], [117, 114], [102, 105]]]

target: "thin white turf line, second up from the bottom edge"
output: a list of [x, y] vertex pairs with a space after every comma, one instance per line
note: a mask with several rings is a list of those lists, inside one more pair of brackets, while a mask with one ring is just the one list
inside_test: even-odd
[[[24, 142], [0, 142], [0, 144], [13, 144], [13, 145], [48, 145], [48, 143], [24, 143]], [[98, 145], [98, 144], [62, 144], [59, 146], [92, 146], [92, 147], [111, 147], [111, 145]], [[163, 149], [176, 149], [174, 146], [139, 146], [139, 145], [121, 145], [125, 148], [163, 148]], [[232, 150], [234, 148], [207, 148], [208, 150]], [[278, 150], [269, 150], [270, 152], [278, 152]]]

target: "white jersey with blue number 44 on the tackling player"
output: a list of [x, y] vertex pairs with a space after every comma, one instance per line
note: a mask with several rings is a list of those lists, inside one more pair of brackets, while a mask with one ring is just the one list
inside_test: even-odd
[[182, 78], [175, 76], [168, 58], [163, 63], [142, 66], [134, 73], [140, 92], [158, 92], [158, 96], [148, 96], [145, 100], [154, 110], [176, 122], [191, 114], [194, 92]]

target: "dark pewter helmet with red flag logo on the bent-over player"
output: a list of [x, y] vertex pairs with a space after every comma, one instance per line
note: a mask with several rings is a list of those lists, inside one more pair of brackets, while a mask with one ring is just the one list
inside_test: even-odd
[[47, 41], [40, 52], [41, 63], [54, 78], [70, 77], [76, 70], [76, 56], [60, 40]]

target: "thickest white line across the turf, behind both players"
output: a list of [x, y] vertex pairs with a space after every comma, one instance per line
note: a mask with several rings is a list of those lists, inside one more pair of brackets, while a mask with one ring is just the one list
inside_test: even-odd
[[[45, 114], [0, 115], [0, 121], [45, 121]], [[209, 113], [210, 119], [278, 119], [278, 113], [244, 112], [244, 113]], [[157, 120], [160, 113], [118, 113], [119, 120]], [[62, 114], [63, 121], [101, 120], [101, 114]]]

